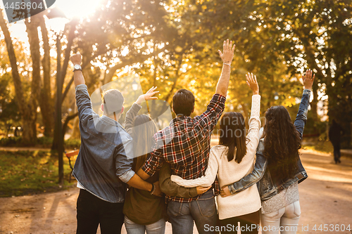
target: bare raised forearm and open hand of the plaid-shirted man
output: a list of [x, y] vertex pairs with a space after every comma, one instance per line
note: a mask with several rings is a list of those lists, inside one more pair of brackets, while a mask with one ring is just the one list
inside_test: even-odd
[[[230, 42], [230, 43], [229, 43]], [[223, 53], [219, 50], [220, 58], [222, 59], [222, 72], [220, 75], [220, 79], [218, 82], [218, 85], [216, 86], [216, 91], [215, 93], [218, 93], [222, 96], [227, 96], [227, 89], [229, 87], [229, 82], [230, 82], [230, 73], [231, 73], [231, 63], [234, 58], [234, 45], [232, 47], [232, 41], [224, 41], [223, 44]]]

